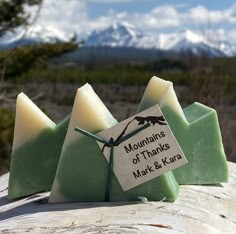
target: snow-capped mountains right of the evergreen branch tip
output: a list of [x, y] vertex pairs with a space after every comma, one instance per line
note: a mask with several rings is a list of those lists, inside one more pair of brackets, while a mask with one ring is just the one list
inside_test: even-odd
[[232, 56], [236, 55], [236, 46], [226, 42], [211, 42], [203, 35], [190, 30], [181, 30], [169, 34], [145, 35], [134, 26], [117, 23], [106, 29], [92, 32], [87, 46], [134, 47], [159, 49], [176, 53], [191, 52], [196, 55]]

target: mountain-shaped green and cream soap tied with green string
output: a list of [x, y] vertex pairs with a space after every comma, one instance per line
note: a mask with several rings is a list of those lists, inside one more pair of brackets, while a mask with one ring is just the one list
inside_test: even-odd
[[[90, 85], [78, 89], [71, 120], [49, 202], [105, 201], [108, 163], [95, 140], [74, 131], [80, 127], [98, 133], [117, 124]], [[114, 174], [110, 201], [149, 200], [174, 201], [179, 186], [172, 173], [155, 178], [124, 192]]]

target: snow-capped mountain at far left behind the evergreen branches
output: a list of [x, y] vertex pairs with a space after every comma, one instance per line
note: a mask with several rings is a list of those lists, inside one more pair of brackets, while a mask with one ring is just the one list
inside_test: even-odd
[[0, 47], [14, 47], [15, 45], [26, 45], [26, 44], [37, 44], [42, 42], [59, 42], [68, 41], [69, 37], [65, 35], [62, 31], [51, 27], [42, 27], [40, 25], [35, 25], [30, 28], [25, 34], [22, 30], [17, 30], [16, 32], [7, 33], [0, 40]]

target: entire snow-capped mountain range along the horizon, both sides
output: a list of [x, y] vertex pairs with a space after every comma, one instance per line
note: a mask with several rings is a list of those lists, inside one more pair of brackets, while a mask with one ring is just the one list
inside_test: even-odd
[[[9, 33], [0, 40], [0, 48], [10, 48], [18, 44], [35, 44], [41, 42], [68, 41], [69, 36], [56, 28], [35, 25], [28, 34]], [[21, 38], [21, 39], [20, 39]], [[22, 39], [23, 38], [23, 39]], [[19, 43], [20, 40], [20, 43]], [[194, 55], [205, 54], [209, 57], [236, 56], [236, 44], [228, 41], [209, 40], [204, 35], [188, 29], [175, 33], [144, 33], [135, 26], [119, 22], [109, 27], [96, 30], [84, 38], [86, 47], [137, 48]]]

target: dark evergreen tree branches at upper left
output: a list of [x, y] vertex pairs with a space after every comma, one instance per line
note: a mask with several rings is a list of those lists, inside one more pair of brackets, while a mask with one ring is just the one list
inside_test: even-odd
[[[30, 14], [25, 12], [25, 6], [39, 5], [40, 7], [42, 3], [43, 0], [0, 0], [0, 38], [19, 26], [29, 24]], [[13, 49], [0, 51], [0, 79], [9, 80], [10, 78], [14, 81], [22, 73], [35, 67], [45, 67], [48, 59], [76, 48], [78, 48], [78, 44], [75, 34], [68, 42], [41, 43], [19, 47], [17, 45]]]

